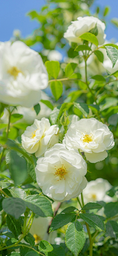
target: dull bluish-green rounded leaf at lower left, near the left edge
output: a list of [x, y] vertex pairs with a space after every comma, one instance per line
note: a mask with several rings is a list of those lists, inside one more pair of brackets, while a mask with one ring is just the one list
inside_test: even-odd
[[4, 198], [2, 201], [4, 211], [18, 219], [26, 210], [26, 204], [21, 198]]

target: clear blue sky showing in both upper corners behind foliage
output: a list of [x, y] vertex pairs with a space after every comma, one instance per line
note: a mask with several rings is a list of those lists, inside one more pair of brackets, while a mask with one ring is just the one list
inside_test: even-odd
[[[46, 0], [0, 0], [0, 41], [7, 41], [12, 37], [13, 30], [19, 29], [23, 37], [30, 35], [38, 28], [38, 23], [31, 21], [27, 16], [30, 10], [39, 11]], [[93, 14], [96, 6], [104, 9], [105, 5], [110, 6], [111, 11], [107, 20], [118, 18], [118, 0], [95, 0], [91, 7]], [[118, 29], [108, 23], [107, 39], [116, 38], [118, 41]]]

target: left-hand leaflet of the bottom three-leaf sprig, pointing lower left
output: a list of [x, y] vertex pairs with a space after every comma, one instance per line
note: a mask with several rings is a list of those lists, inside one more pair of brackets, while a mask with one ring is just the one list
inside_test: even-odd
[[71, 222], [75, 217], [74, 213], [60, 213], [55, 216], [53, 219], [51, 226], [50, 226], [50, 232], [58, 229], [61, 226], [64, 226]]

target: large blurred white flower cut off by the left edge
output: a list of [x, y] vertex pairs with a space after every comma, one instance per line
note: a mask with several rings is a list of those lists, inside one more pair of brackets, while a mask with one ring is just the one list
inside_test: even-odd
[[48, 86], [40, 55], [21, 41], [0, 43], [0, 101], [31, 107]]

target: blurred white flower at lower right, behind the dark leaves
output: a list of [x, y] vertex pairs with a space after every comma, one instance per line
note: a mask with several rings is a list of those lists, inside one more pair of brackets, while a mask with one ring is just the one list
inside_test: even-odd
[[112, 198], [106, 194], [112, 188], [112, 185], [102, 178], [95, 181], [89, 181], [87, 187], [83, 190], [85, 203], [104, 201], [110, 202]]

